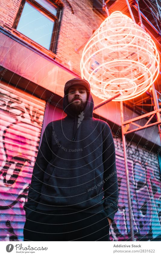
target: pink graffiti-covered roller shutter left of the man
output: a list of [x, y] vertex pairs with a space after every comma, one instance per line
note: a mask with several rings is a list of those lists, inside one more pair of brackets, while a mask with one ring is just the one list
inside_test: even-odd
[[0, 84], [0, 110], [0, 241], [23, 241], [23, 205], [39, 147], [45, 101]]

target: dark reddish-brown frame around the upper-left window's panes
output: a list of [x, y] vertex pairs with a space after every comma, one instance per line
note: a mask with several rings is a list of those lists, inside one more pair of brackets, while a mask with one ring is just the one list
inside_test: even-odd
[[17, 12], [17, 15], [16, 15], [16, 18], [14, 20], [14, 24], [13, 24], [12, 28], [17, 30], [17, 26], [18, 26], [18, 23], [20, 21], [20, 18], [21, 18], [21, 15], [22, 15], [22, 11], [23, 11], [23, 8], [24, 8], [24, 5], [25, 5], [26, 2], [29, 3], [31, 6], [33, 6], [36, 9], [41, 8], [41, 9], [38, 9], [38, 11], [41, 14], [43, 14], [45, 17], [47, 17], [51, 21], [55, 21], [54, 22], [54, 28], [53, 28], [53, 31], [52, 31], [52, 36], [51, 36], [50, 49], [46, 49], [44, 46], [42, 46], [39, 43], [37, 43], [36, 41], [32, 40], [31, 38], [29, 38], [25, 34], [22, 34], [18, 30], [17, 30], [17, 32], [21, 33], [22, 35], [27, 37], [29, 40], [31, 40], [32, 42], [40, 45], [41, 47], [45, 48], [46, 50], [56, 54], [57, 40], [58, 40], [58, 31], [59, 31], [59, 23], [60, 23], [59, 21], [60, 21], [60, 17], [61, 17], [61, 14], [62, 14], [62, 7], [63, 7], [63, 5], [61, 5], [60, 2], [59, 2], [59, 4], [56, 4], [56, 3], [52, 3], [50, 0], [47, 0], [47, 1], [57, 8], [57, 14], [58, 14], [57, 16], [55, 16], [52, 13], [50, 13], [50, 11], [48, 11], [45, 7], [41, 6], [39, 3], [37, 3], [34, 0], [22, 0], [21, 4], [20, 4], [20, 7], [19, 7], [19, 11]]

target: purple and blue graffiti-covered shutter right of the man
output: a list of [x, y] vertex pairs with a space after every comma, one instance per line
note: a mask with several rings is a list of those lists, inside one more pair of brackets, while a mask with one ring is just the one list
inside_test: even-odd
[[[115, 140], [119, 185], [119, 210], [111, 226], [111, 241], [130, 240], [128, 194], [121, 139]], [[133, 142], [127, 145], [128, 170], [136, 241], [161, 240], [161, 178], [155, 153], [142, 150]]]

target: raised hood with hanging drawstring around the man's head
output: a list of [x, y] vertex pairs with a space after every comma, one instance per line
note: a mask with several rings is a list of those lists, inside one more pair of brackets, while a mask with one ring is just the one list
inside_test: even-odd
[[[83, 119], [92, 119], [93, 118], [93, 108], [94, 102], [90, 91], [87, 91], [87, 100], [86, 105], [80, 115], [76, 115], [74, 111], [70, 108], [68, 103], [68, 90], [64, 90], [64, 97], [63, 97], [63, 111], [67, 114], [65, 119], [75, 119], [75, 124], [73, 128], [73, 141], [76, 140], [78, 128], [81, 126], [81, 121]], [[78, 120], [79, 119], [79, 120]]]

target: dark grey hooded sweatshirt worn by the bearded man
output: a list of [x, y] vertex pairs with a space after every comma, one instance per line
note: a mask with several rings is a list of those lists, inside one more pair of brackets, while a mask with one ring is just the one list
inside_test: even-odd
[[114, 219], [118, 210], [115, 146], [109, 125], [93, 118], [93, 107], [88, 92], [84, 111], [75, 115], [65, 92], [67, 116], [45, 128], [24, 204], [26, 217], [35, 209], [72, 209], [105, 212]]

